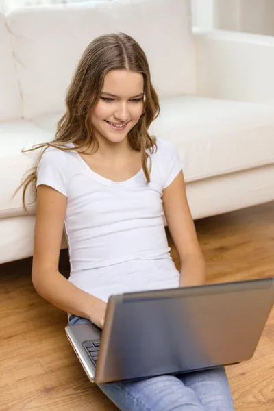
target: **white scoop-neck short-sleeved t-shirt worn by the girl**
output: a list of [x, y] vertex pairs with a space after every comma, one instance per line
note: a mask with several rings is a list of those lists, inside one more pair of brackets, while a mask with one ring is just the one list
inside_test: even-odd
[[49, 147], [38, 164], [36, 186], [46, 184], [67, 197], [69, 281], [105, 302], [121, 292], [179, 286], [164, 229], [162, 190], [182, 162], [171, 143], [156, 142], [156, 153], [147, 150], [149, 184], [142, 169], [124, 182], [102, 177], [76, 150]]

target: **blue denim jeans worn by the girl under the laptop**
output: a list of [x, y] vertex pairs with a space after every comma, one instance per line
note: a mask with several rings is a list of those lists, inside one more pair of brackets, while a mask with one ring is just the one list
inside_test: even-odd
[[[69, 325], [90, 323], [70, 316]], [[121, 411], [233, 411], [224, 367], [134, 382], [98, 384]]]

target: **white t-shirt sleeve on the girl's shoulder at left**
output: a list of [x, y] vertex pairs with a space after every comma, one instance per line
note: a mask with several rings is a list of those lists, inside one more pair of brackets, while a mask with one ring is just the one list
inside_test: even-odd
[[67, 197], [69, 186], [69, 166], [64, 151], [49, 148], [43, 153], [37, 167], [36, 187], [50, 186]]

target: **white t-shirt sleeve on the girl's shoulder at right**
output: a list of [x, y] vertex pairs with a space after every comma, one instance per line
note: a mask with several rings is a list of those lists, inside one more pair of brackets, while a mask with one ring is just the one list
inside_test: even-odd
[[161, 140], [160, 145], [162, 146], [161, 168], [164, 179], [163, 188], [166, 188], [183, 169], [183, 162], [179, 157], [177, 148], [171, 142]]

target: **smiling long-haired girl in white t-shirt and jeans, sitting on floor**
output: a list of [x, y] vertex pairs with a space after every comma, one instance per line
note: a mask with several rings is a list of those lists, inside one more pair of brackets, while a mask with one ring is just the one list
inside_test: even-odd
[[[44, 147], [22, 183], [24, 207], [27, 186], [37, 187], [32, 281], [71, 313], [69, 325], [103, 327], [111, 294], [206, 281], [179, 155], [147, 131], [159, 111], [140, 45], [123, 33], [99, 36], [79, 60], [55, 139], [31, 149]], [[58, 271], [63, 227], [69, 280]], [[123, 411], [234, 410], [223, 367], [99, 387]]]

